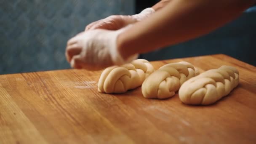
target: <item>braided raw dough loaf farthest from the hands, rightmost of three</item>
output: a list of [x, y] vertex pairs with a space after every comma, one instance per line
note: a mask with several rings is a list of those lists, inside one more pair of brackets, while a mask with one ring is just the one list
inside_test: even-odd
[[179, 89], [179, 98], [185, 104], [213, 104], [226, 96], [239, 83], [236, 68], [222, 66], [211, 69], [186, 81]]

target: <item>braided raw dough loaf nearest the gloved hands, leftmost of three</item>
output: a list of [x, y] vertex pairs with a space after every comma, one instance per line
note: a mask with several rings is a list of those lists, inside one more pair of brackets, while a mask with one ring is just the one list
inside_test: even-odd
[[108, 67], [101, 73], [98, 91], [101, 93], [124, 93], [141, 86], [154, 67], [145, 59], [136, 59], [131, 64]]

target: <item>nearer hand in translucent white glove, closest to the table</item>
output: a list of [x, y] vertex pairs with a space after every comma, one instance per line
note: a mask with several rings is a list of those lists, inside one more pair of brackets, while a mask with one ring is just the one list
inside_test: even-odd
[[128, 27], [115, 31], [95, 29], [72, 37], [67, 42], [67, 61], [71, 67], [88, 70], [99, 70], [131, 62], [138, 54], [123, 59], [117, 48], [117, 36]]

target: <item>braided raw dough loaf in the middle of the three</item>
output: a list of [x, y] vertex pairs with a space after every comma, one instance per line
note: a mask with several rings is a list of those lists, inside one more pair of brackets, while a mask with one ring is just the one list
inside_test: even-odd
[[199, 75], [199, 71], [186, 61], [165, 64], [153, 72], [141, 86], [145, 98], [166, 99], [175, 95], [182, 83]]

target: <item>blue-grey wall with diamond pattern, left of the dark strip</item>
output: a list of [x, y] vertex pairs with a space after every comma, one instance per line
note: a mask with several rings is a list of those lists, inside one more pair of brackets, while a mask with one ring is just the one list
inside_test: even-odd
[[67, 40], [133, 0], [0, 0], [0, 74], [69, 68]]

